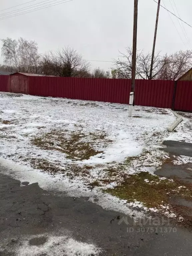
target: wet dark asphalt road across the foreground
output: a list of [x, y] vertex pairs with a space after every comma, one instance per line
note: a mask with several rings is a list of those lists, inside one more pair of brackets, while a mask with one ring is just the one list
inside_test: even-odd
[[[0, 193], [0, 256], [17, 256], [23, 237], [29, 237], [29, 247], [41, 247], [47, 242], [45, 233], [48, 237], [65, 234], [77, 241], [95, 244], [102, 249], [102, 256], [188, 256], [192, 252], [192, 233], [167, 225], [166, 221], [165, 225], [145, 225], [145, 232], [141, 232], [141, 225], [135, 226], [133, 217], [127, 217], [129, 224], [119, 225], [123, 217], [120, 213], [103, 210], [88, 202], [88, 198], [74, 200], [64, 194], [56, 196], [37, 183], [20, 186], [19, 181], [2, 174]], [[62, 250], [58, 253], [59, 246], [55, 245], [55, 256], [65, 256]], [[37, 254], [40, 255], [49, 253]]]

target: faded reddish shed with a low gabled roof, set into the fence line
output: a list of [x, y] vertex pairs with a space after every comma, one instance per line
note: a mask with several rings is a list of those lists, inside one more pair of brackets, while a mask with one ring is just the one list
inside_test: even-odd
[[28, 77], [45, 76], [40, 74], [29, 74], [16, 72], [10, 75], [10, 92], [28, 94]]

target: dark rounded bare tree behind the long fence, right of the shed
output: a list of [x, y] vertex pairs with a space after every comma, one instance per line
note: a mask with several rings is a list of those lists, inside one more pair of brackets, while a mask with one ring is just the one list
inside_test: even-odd
[[90, 64], [73, 48], [64, 47], [57, 52], [44, 54], [43, 73], [62, 77], [82, 76], [89, 71]]

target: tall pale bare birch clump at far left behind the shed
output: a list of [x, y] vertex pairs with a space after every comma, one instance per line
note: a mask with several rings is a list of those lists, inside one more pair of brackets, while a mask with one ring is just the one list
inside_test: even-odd
[[2, 39], [1, 48], [4, 64], [13, 67], [16, 71], [37, 73], [40, 64], [40, 55], [35, 41], [27, 41], [20, 37]]

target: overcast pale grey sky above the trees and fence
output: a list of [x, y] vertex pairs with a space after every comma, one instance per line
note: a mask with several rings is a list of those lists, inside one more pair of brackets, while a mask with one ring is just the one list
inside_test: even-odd
[[[0, 10], [28, 1], [1, 1]], [[14, 9], [8, 9], [0, 12], [0, 15], [42, 1], [36, 0]], [[24, 37], [28, 40], [35, 40], [41, 53], [69, 45], [87, 60], [111, 61], [118, 56], [118, 50], [124, 51], [126, 46], [132, 44], [133, 2], [134, 0], [73, 0], [0, 20], [0, 38]], [[165, 4], [170, 11], [173, 11], [170, 3], [175, 8], [174, 2], [180, 17], [192, 25], [192, 1], [162, 0], [162, 5]], [[152, 49], [156, 10], [157, 4], [153, 0], [139, 0], [138, 49], [144, 49], [146, 52]], [[190, 49], [177, 18], [172, 15], [171, 18], [166, 10], [160, 8], [156, 51], [171, 53]], [[183, 26], [192, 44], [192, 28], [186, 24]], [[105, 70], [112, 66], [109, 62], [91, 62], [91, 64], [93, 68], [100, 66]]]

